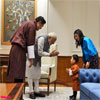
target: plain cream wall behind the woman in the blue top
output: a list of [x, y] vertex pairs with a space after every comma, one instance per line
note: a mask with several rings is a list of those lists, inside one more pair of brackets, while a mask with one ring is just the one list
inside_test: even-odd
[[93, 40], [99, 51], [99, 0], [50, 0], [48, 16], [48, 32], [57, 33], [60, 55], [82, 54], [80, 48], [76, 49], [73, 39], [73, 32], [78, 28]]

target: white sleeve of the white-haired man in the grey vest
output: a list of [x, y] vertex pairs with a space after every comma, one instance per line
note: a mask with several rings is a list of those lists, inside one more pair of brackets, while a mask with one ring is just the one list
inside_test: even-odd
[[38, 39], [38, 54], [39, 56], [49, 56], [50, 53], [43, 50], [44, 48], [44, 37]]

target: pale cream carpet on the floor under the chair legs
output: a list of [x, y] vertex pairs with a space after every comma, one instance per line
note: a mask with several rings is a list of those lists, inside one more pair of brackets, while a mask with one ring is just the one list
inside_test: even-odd
[[[46, 94], [47, 88], [40, 87], [40, 91]], [[80, 100], [79, 92], [77, 95], [77, 100]], [[72, 88], [71, 87], [57, 87], [56, 92], [54, 92], [54, 88], [50, 87], [50, 94], [49, 96], [46, 95], [45, 98], [37, 97], [35, 100], [69, 100], [69, 96], [72, 95]], [[29, 88], [26, 87], [25, 94], [23, 96], [24, 100], [32, 100], [29, 98]]]

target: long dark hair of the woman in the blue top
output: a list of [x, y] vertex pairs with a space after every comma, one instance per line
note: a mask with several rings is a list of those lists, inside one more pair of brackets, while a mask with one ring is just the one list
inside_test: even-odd
[[77, 41], [77, 40], [75, 39], [75, 36], [74, 36], [74, 39], [76, 40], [76, 48], [77, 48], [78, 46], [80, 46], [80, 45], [83, 44], [84, 34], [83, 34], [83, 32], [82, 32], [80, 29], [75, 30], [74, 35], [75, 35], [75, 34], [78, 34], [78, 36], [79, 36], [79, 38], [80, 38], [80, 41]]

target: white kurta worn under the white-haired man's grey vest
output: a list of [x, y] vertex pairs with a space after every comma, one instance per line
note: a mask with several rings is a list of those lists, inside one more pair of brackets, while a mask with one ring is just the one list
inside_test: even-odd
[[[49, 56], [50, 53], [43, 51], [44, 48], [44, 37], [38, 39], [38, 54], [39, 56]], [[33, 51], [34, 53], [34, 51]], [[26, 61], [26, 77], [31, 79], [40, 79], [41, 76], [41, 67], [39, 64], [37, 66], [32, 65], [29, 68], [29, 60]]]

